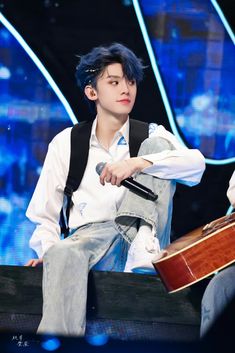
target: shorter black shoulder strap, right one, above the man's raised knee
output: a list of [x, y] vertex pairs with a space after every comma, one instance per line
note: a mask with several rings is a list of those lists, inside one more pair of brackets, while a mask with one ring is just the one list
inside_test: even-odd
[[149, 124], [144, 121], [130, 119], [129, 147], [130, 156], [136, 157], [141, 143], [149, 135]]

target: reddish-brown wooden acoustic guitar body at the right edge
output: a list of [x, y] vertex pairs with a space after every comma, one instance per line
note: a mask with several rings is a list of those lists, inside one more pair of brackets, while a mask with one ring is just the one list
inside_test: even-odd
[[235, 262], [235, 212], [173, 241], [153, 263], [169, 293], [179, 291]]

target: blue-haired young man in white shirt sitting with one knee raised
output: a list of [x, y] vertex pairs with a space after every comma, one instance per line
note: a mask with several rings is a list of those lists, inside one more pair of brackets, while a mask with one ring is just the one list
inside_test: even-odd
[[[60, 240], [59, 215], [69, 168], [71, 128], [50, 143], [27, 210], [29, 219], [37, 224], [30, 245], [39, 257], [27, 265], [43, 262], [39, 333], [83, 335], [88, 271], [131, 271], [146, 259], [151, 264], [159, 249], [170, 242], [176, 181], [190, 186], [200, 182], [205, 169], [203, 156], [181, 146], [163, 126], [150, 124], [149, 138], [138, 156], [130, 158], [129, 113], [142, 76], [141, 61], [118, 43], [96, 47], [81, 57], [77, 82], [95, 106], [96, 118], [86, 169], [73, 194], [70, 236]], [[100, 162], [106, 164], [99, 177], [96, 167]], [[120, 186], [130, 176], [151, 188], [157, 201], [145, 200]], [[136, 246], [131, 248], [126, 265], [129, 244], [135, 237]]]

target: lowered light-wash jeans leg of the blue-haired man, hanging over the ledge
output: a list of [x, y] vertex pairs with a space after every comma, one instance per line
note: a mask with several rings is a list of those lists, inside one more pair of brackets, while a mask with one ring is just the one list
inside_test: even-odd
[[43, 258], [43, 317], [38, 333], [83, 335], [88, 271], [95, 264], [99, 270], [122, 271], [127, 250], [113, 221], [82, 226], [49, 248]]

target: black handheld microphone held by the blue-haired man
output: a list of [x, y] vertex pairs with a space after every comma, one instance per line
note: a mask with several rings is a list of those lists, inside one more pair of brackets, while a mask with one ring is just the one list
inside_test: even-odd
[[[105, 164], [106, 163], [104, 163], [104, 162], [100, 162], [97, 164], [97, 166], [95, 168], [97, 174], [100, 175], [102, 173], [102, 171], [105, 167]], [[152, 190], [150, 190], [146, 186], [138, 183], [132, 177], [129, 177], [129, 178], [122, 180], [120, 184], [125, 186], [126, 188], [128, 188], [129, 190], [134, 192], [135, 194], [137, 194], [147, 200], [156, 201], [158, 198], [158, 195], [154, 194], [154, 192]]]

